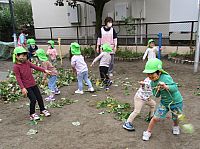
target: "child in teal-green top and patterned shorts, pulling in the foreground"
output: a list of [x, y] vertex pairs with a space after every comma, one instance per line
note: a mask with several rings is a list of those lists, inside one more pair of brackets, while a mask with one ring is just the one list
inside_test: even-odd
[[157, 58], [147, 61], [143, 73], [146, 73], [152, 80], [151, 87], [153, 95], [155, 97], [161, 97], [161, 100], [147, 130], [143, 132], [142, 139], [144, 141], [149, 140], [154, 125], [159, 121], [159, 119], [166, 118], [168, 111], [172, 113], [172, 133], [174, 135], [179, 135], [180, 129], [178, 126], [177, 114], [182, 113], [183, 98], [176, 83], [173, 81], [172, 77], [162, 69], [162, 62]]

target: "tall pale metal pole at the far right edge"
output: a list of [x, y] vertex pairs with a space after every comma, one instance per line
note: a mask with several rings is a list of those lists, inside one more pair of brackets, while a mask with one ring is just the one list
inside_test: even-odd
[[194, 72], [198, 71], [199, 65], [199, 48], [200, 48], [200, 0], [198, 1], [198, 26], [197, 26], [197, 37], [196, 37], [196, 51], [195, 51], [195, 59], [194, 59]]

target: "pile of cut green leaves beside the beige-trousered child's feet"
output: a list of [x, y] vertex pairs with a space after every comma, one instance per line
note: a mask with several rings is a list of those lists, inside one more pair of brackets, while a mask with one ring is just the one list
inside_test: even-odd
[[131, 106], [129, 103], [121, 103], [111, 97], [99, 101], [96, 107], [98, 109], [104, 108], [108, 113], [114, 113], [114, 118], [121, 121], [125, 121], [131, 113]]

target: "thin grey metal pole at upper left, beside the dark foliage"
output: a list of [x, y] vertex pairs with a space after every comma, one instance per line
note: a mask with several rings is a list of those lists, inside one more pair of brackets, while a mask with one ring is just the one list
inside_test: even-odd
[[12, 0], [9, 0], [9, 6], [10, 6], [11, 22], [12, 22], [12, 27], [13, 27], [14, 45], [15, 45], [15, 47], [17, 47], [17, 35], [16, 35], [16, 29], [15, 29], [15, 18], [14, 18]]

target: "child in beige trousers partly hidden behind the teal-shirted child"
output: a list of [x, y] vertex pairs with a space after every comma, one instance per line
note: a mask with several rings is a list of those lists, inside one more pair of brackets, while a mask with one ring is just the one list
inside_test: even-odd
[[152, 89], [151, 89], [151, 80], [147, 77], [144, 81], [140, 81], [140, 88], [135, 94], [134, 97], [134, 111], [130, 114], [127, 121], [124, 123], [123, 128], [126, 130], [135, 130], [133, 126], [133, 121], [135, 117], [140, 113], [142, 107], [144, 104], [147, 104], [150, 107], [149, 117], [146, 119], [146, 121], [150, 121], [153, 117], [156, 102], [152, 99], [150, 99], [150, 96], [152, 95]]

